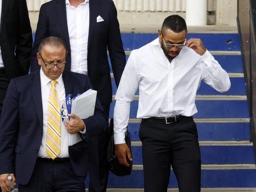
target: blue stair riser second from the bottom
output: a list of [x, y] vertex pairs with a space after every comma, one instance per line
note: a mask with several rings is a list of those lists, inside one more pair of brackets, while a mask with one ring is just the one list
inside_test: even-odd
[[[142, 164], [142, 147], [132, 146], [134, 164]], [[202, 164], [255, 164], [253, 146], [200, 146]]]

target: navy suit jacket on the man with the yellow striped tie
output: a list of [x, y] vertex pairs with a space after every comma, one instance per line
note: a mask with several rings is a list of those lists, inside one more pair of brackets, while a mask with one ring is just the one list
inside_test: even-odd
[[[65, 93], [73, 96], [91, 89], [88, 76], [63, 72]], [[90, 138], [102, 133], [108, 119], [96, 100], [95, 113], [83, 120], [86, 133], [82, 142], [69, 146], [69, 157], [76, 175], [86, 176], [87, 146]], [[14, 173], [26, 185], [32, 175], [43, 137], [43, 107], [39, 70], [11, 80], [0, 121], [0, 174]]]

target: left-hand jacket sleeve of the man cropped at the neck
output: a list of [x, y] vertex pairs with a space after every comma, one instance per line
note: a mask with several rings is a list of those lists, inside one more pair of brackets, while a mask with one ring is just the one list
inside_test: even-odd
[[49, 37], [48, 19], [45, 12], [45, 6], [42, 5], [39, 11], [37, 30], [35, 31], [35, 41], [32, 49], [31, 72], [34, 72], [40, 68], [37, 61], [37, 51], [40, 42], [46, 37]]

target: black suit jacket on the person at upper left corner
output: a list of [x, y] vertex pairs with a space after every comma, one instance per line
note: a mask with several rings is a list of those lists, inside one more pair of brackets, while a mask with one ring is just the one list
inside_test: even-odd
[[2, 0], [0, 46], [7, 77], [28, 74], [32, 31], [26, 0]]

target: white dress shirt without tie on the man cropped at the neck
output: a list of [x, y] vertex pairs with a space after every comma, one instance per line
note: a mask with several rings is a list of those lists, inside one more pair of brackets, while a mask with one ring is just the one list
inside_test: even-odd
[[71, 6], [69, 0], [66, 0], [66, 11], [71, 50], [71, 71], [87, 75], [89, 0], [85, 0], [78, 7]]

